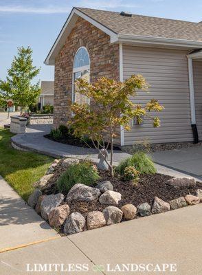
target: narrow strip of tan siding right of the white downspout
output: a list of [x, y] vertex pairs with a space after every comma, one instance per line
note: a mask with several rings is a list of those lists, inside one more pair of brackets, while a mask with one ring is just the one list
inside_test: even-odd
[[202, 140], [202, 62], [193, 61], [194, 98], [199, 140]]

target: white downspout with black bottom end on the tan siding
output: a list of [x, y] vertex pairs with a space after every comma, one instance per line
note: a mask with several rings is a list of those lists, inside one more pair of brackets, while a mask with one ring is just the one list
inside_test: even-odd
[[194, 137], [194, 144], [199, 143], [199, 135], [196, 124], [196, 111], [194, 100], [194, 79], [193, 79], [193, 64], [191, 56], [188, 56], [188, 72], [189, 72], [189, 87], [190, 87], [190, 112], [191, 112], [191, 126]]

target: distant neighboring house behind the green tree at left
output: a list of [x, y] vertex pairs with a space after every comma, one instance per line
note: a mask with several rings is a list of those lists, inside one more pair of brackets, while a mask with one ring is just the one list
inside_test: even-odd
[[41, 109], [44, 105], [54, 105], [54, 81], [41, 81], [41, 94], [38, 98]]

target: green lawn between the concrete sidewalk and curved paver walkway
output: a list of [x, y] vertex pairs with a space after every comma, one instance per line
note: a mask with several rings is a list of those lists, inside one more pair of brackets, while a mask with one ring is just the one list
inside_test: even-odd
[[0, 128], [0, 175], [27, 200], [33, 190], [32, 184], [45, 174], [53, 158], [15, 150], [10, 137], [9, 129]]

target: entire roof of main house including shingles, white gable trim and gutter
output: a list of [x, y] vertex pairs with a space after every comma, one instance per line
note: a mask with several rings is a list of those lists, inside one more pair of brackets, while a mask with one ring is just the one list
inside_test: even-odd
[[54, 60], [65, 44], [71, 30], [82, 17], [111, 37], [111, 43], [135, 43], [167, 47], [202, 48], [202, 23], [146, 17], [132, 14], [124, 17], [119, 12], [73, 8], [63, 25], [52, 49], [45, 59], [46, 65], [54, 65]]

